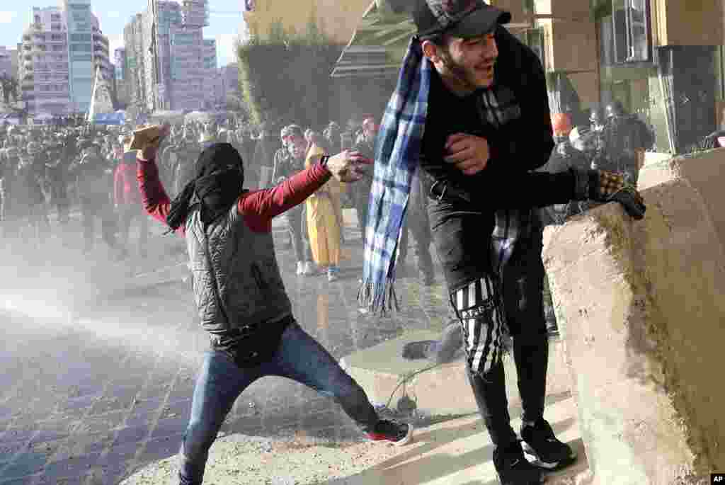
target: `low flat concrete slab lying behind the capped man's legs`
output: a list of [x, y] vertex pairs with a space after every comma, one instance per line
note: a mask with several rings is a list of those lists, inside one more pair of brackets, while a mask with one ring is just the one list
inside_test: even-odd
[[[407, 332], [398, 339], [385, 341], [369, 349], [347, 355], [340, 360], [342, 368], [363, 386], [370, 401], [395, 407], [398, 399], [407, 394], [416, 400], [418, 409], [434, 415], [459, 415], [478, 413], [479, 407], [473, 399], [473, 391], [465, 375], [463, 358], [439, 365], [419, 373], [404, 386], [401, 381], [411, 373], [430, 367], [428, 360], [405, 360], [403, 345], [410, 341], [436, 340], [440, 333], [431, 331]], [[516, 384], [516, 368], [513, 356], [506, 357], [506, 391], [509, 405], [521, 405]], [[564, 360], [564, 352], [558, 339], [549, 344], [549, 369], [547, 374], [547, 396], [560, 397], [570, 391], [570, 377]], [[391, 400], [392, 396], [392, 400]]]

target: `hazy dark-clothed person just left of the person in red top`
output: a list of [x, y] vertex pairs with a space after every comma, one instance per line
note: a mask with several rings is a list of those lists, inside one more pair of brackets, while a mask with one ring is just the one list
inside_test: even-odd
[[75, 176], [83, 218], [83, 252], [94, 249], [96, 219], [101, 220], [101, 237], [112, 250], [115, 259], [124, 257], [117, 245], [117, 220], [113, 212], [113, 167], [99, 154], [99, 147], [91, 141], [80, 146], [82, 156], [70, 167]]

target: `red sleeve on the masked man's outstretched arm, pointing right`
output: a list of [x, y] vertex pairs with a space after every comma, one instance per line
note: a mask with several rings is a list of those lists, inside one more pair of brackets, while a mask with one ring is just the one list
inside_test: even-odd
[[243, 194], [239, 197], [237, 208], [252, 231], [270, 232], [273, 217], [304, 202], [330, 177], [326, 167], [315, 163], [276, 187]]

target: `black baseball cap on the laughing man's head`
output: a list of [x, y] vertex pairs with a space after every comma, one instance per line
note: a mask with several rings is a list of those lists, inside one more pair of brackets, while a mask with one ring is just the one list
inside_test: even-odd
[[511, 14], [483, 0], [415, 0], [413, 22], [422, 40], [442, 33], [473, 38], [492, 33]]

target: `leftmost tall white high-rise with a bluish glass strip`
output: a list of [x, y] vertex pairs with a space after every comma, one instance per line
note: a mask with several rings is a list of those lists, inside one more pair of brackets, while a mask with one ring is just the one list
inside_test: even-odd
[[112, 76], [108, 39], [88, 0], [33, 7], [22, 34], [18, 76], [31, 113], [86, 112], [96, 67]]

